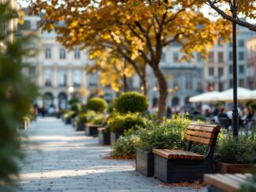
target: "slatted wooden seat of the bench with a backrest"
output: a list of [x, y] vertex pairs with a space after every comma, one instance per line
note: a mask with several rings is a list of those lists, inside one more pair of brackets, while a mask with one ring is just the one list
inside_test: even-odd
[[179, 158], [179, 159], [195, 159], [202, 160], [203, 155], [195, 154], [187, 150], [166, 150], [166, 149], [153, 149], [154, 154], [158, 154], [163, 158]]

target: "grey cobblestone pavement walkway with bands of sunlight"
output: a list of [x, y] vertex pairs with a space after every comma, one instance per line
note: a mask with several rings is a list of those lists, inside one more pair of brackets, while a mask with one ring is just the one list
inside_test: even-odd
[[[134, 161], [104, 159], [110, 147], [56, 118], [38, 118], [25, 130], [27, 162], [17, 191], [195, 191], [169, 187], [134, 171]], [[206, 188], [199, 191], [206, 191]]]

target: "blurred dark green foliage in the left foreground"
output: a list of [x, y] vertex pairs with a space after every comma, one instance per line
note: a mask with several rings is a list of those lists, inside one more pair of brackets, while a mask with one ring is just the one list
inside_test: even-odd
[[[9, 1], [5, 1], [9, 2]], [[17, 127], [24, 121], [24, 116], [29, 113], [31, 101], [35, 100], [37, 90], [35, 85], [25, 77], [23, 69], [29, 68], [22, 62], [22, 57], [28, 53], [26, 46], [30, 38], [20, 37], [10, 43], [9, 35], [15, 32], [9, 31], [6, 24], [18, 17], [16, 10], [6, 3], [0, 3], [0, 191], [12, 191], [6, 189], [13, 183], [20, 170], [20, 161], [24, 158]], [[6, 41], [5, 41], [6, 40]]]

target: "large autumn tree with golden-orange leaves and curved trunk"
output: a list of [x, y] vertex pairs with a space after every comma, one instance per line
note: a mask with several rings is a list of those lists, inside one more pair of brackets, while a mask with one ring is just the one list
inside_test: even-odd
[[[72, 49], [90, 47], [92, 54], [108, 49], [126, 59], [138, 73], [137, 58], [152, 67], [159, 83], [159, 113], [162, 119], [168, 95], [166, 78], [159, 67], [163, 48], [176, 42], [182, 60], [207, 51], [218, 38], [227, 39], [231, 27], [226, 20], [212, 21], [200, 13], [197, 0], [151, 1], [103, 0], [31, 2], [31, 13], [45, 11], [42, 29], [55, 30], [57, 40]], [[57, 24], [64, 22], [64, 24]]]

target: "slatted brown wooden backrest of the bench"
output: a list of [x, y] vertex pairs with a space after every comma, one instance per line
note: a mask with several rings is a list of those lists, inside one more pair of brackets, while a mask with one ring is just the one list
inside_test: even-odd
[[185, 139], [210, 146], [214, 143], [214, 136], [218, 134], [220, 129], [220, 125], [189, 125], [185, 133]]

